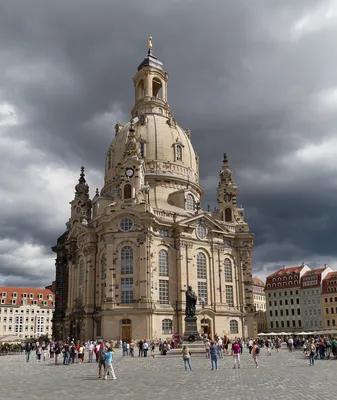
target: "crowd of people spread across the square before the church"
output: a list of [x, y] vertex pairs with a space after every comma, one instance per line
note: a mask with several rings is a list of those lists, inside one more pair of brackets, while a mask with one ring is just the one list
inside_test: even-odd
[[[305, 357], [309, 358], [309, 365], [314, 366], [314, 360], [319, 359], [337, 359], [337, 338], [329, 339], [327, 337], [313, 338], [257, 338], [257, 339], [242, 339], [235, 338], [230, 340], [228, 337], [219, 337], [215, 335], [213, 338], [204, 336], [202, 338], [205, 357], [210, 360], [212, 370], [219, 369], [219, 359], [224, 356], [233, 357], [233, 368], [241, 367], [240, 356], [243, 353], [244, 347], [252, 356], [255, 367], [259, 368], [259, 358], [261, 349], [265, 349], [266, 355], [270, 356], [271, 350], [276, 349], [279, 352], [282, 347], [282, 342], [285, 342], [290, 352], [298, 348], [303, 348]], [[122, 342], [107, 342], [103, 340], [87, 341], [85, 343], [72, 338], [65, 342], [35, 342], [27, 343], [24, 347], [26, 354], [26, 362], [31, 360], [31, 355], [35, 354], [38, 362], [45, 362], [47, 359], [52, 359], [57, 365], [83, 364], [85, 354], [87, 354], [87, 362], [98, 364], [98, 378], [107, 379], [111, 375], [112, 379], [117, 379], [114, 368], [112, 366], [115, 352], [114, 347], [119, 347], [123, 357], [155, 357], [155, 353], [166, 355], [171, 349], [181, 349], [181, 355], [184, 362], [185, 370], [193, 370], [191, 362], [190, 345], [183, 343], [177, 334], [171, 339], [159, 340], [139, 340], [130, 341], [130, 343]], [[137, 351], [137, 353], [136, 353]]]

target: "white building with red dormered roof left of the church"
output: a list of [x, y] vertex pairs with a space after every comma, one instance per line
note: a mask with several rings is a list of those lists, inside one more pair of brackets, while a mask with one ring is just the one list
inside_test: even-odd
[[49, 289], [0, 286], [0, 336], [52, 337], [54, 305]]

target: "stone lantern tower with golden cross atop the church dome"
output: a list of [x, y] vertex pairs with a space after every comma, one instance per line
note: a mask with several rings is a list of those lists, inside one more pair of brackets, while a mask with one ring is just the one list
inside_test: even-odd
[[148, 39], [148, 51], [144, 60], [138, 65], [133, 78], [135, 86], [135, 106], [131, 111], [132, 118], [144, 114], [161, 114], [171, 116], [167, 103], [168, 75], [164, 65], [153, 54], [152, 36]]

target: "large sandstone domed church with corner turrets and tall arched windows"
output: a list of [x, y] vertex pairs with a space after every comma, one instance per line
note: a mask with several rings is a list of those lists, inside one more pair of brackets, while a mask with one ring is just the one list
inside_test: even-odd
[[114, 127], [103, 187], [91, 199], [82, 167], [67, 229], [52, 247], [54, 337], [183, 335], [189, 286], [201, 334], [252, 336], [254, 235], [227, 155], [218, 207], [204, 210], [192, 133], [168, 104], [168, 74], [151, 38], [133, 84], [131, 118]]

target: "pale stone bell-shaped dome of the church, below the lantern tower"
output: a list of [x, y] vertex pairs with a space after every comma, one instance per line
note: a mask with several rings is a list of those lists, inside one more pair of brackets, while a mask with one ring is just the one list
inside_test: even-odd
[[[199, 185], [198, 157], [190, 141], [189, 130], [178, 126], [172, 117], [151, 113], [141, 118], [140, 122], [135, 117], [133, 123], [145, 163], [146, 179], [151, 175], [165, 175]], [[106, 182], [114, 178], [116, 169], [123, 162], [129, 128], [130, 122], [122, 127], [110, 145]], [[177, 152], [181, 152], [181, 155]]]

